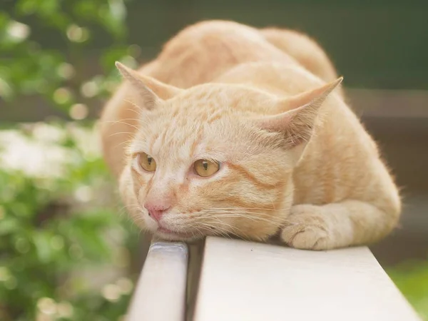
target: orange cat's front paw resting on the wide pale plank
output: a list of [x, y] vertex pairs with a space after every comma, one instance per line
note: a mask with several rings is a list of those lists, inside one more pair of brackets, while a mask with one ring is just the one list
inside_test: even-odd
[[325, 215], [316, 205], [295, 205], [291, 208], [280, 235], [292, 248], [302, 250], [327, 250], [334, 248], [332, 233]]

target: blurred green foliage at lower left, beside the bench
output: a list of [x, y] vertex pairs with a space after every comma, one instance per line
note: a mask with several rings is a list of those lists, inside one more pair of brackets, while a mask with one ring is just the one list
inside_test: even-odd
[[[53, 128], [56, 139], [43, 146], [31, 132], [51, 135], [51, 126], [7, 138], [36, 143], [46, 154], [59, 148], [72, 161], [65, 158], [58, 173], [46, 175], [50, 164], [42, 175], [26, 173], [25, 163], [13, 168], [7, 148], [0, 158], [0, 320], [118, 320], [132, 290], [127, 258], [138, 231], [118, 215], [99, 154], [88, 155], [78, 143], [76, 133], [91, 141], [88, 131]], [[27, 149], [22, 155], [29, 156], [28, 165], [37, 158]], [[109, 270], [116, 271], [113, 277]], [[106, 280], [91, 284], [103, 273]]]

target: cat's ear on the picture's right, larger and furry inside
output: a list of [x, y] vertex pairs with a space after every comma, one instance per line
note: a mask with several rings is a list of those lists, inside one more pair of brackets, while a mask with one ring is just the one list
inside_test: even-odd
[[343, 78], [340, 77], [331, 83], [305, 91], [297, 96], [280, 99], [275, 109], [285, 112], [265, 116], [257, 121], [257, 126], [266, 131], [282, 133], [284, 136], [283, 146], [292, 150], [297, 158], [296, 161], [298, 161], [312, 136], [318, 110], [342, 80]]

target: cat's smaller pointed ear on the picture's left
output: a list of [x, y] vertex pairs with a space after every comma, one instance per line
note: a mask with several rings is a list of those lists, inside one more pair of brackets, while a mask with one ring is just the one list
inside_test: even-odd
[[115, 65], [118, 71], [121, 72], [123, 78], [129, 81], [137, 91], [138, 96], [143, 100], [143, 107], [148, 110], [155, 108], [159, 102], [173, 98], [173, 96], [183, 91], [180, 88], [170, 86], [155, 78], [144, 76], [118, 61], [116, 61]]

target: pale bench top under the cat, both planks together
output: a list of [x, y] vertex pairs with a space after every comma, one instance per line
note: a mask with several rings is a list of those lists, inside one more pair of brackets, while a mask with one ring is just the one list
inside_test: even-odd
[[[151, 245], [128, 320], [185, 320], [187, 256], [181, 243]], [[420, 320], [368, 248], [313, 252], [209, 237], [196, 264], [188, 321]]]

